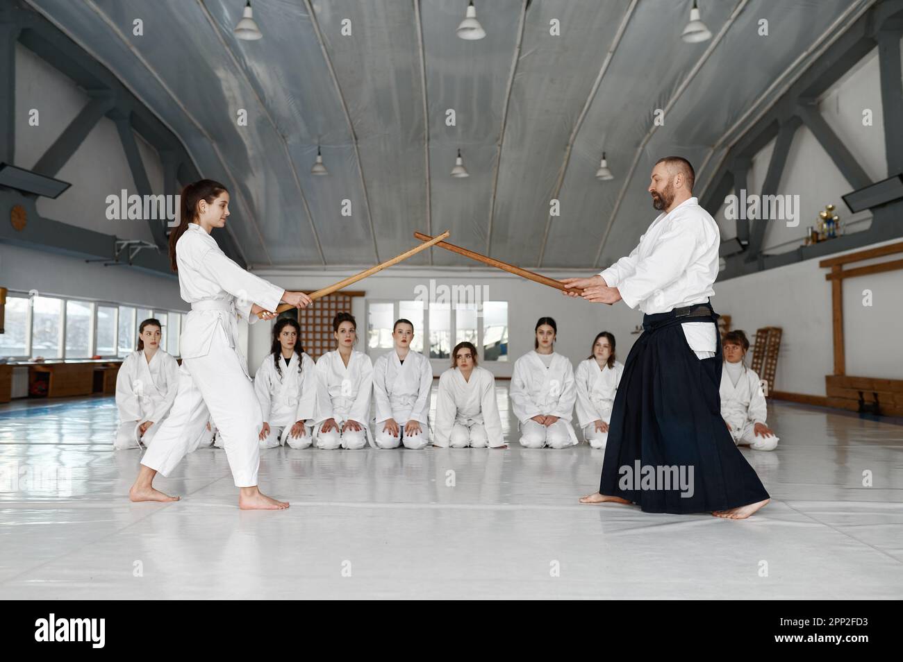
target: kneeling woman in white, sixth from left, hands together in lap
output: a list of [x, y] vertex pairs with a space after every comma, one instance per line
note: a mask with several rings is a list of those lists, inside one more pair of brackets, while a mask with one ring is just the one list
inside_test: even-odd
[[577, 398], [573, 365], [554, 352], [557, 332], [552, 317], [540, 317], [535, 326], [534, 350], [514, 363], [511, 408], [520, 421], [520, 445], [527, 448], [577, 445], [571, 425]]

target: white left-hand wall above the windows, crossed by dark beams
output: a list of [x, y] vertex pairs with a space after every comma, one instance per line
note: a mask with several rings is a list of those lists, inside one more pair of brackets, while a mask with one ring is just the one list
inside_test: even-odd
[[[33, 168], [47, 148], [88, 103], [70, 79], [21, 44], [16, 44], [15, 164]], [[29, 110], [38, 109], [40, 124], [30, 126]], [[156, 152], [138, 138], [138, 149], [156, 192], [163, 192], [163, 166]], [[42, 216], [123, 239], [152, 241], [144, 221], [109, 221], [107, 195], [120, 189], [136, 193], [116, 125], [101, 119], [57, 174], [72, 186], [60, 198], [39, 198]], [[112, 257], [112, 256], [111, 256]], [[38, 290], [44, 295], [128, 303], [151, 308], [186, 310], [173, 277], [127, 266], [104, 267], [58, 253], [0, 244], [0, 286]]]

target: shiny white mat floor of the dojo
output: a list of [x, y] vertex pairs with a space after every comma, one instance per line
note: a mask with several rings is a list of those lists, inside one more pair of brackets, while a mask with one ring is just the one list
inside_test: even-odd
[[279, 448], [261, 484], [292, 507], [242, 512], [222, 450], [158, 483], [183, 501], [133, 504], [139, 453], [113, 452], [111, 398], [14, 401], [0, 597], [903, 597], [903, 426], [780, 402], [768, 421], [777, 452], [743, 453], [773, 501], [744, 521], [580, 505], [602, 460], [585, 444]]

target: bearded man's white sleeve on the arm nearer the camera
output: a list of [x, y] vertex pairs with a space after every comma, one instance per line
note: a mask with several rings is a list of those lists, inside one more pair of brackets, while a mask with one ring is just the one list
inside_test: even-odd
[[[620, 280], [618, 290], [630, 308], [637, 308], [644, 301], [684, 274], [693, 262], [697, 244], [695, 219], [683, 218], [669, 221], [656, 245], [641, 261], [633, 274]], [[699, 223], [702, 221], [699, 220]]]

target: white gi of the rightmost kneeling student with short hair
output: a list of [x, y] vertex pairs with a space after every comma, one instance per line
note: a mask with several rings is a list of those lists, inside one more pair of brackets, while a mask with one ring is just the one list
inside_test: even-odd
[[[731, 366], [729, 368], [729, 366]], [[731, 375], [734, 372], [735, 375]], [[737, 379], [734, 385], [732, 376]], [[759, 384], [759, 375], [743, 363], [724, 362], [721, 368], [721, 418], [731, 425], [731, 437], [738, 446], [749, 445], [753, 450], [772, 451], [777, 447], [774, 435], [762, 437], [754, 432], [756, 423], [765, 425], [768, 405]]]

